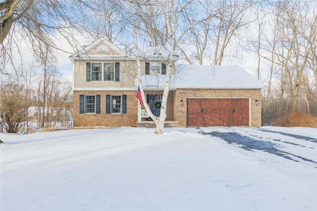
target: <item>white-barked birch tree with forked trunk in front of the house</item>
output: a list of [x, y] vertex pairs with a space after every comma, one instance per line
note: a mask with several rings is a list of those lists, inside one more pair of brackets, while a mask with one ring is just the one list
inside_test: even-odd
[[[145, 108], [146, 111], [148, 112], [148, 114], [150, 115], [150, 117], [153, 119], [153, 121], [156, 124], [156, 130], [154, 133], [156, 134], [160, 134], [163, 133], [164, 130], [164, 122], [165, 122], [165, 118], [166, 118], [166, 108], [167, 108], [167, 98], [168, 98], [168, 94], [169, 94], [169, 90], [170, 90], [170, 84], [171, 84], [171, 73], [172, 73], [172, 69], [175, 68], [175, 58], [174, 58], [174, 54], [175, 54], [175, 50], [176, 50], [176, 45], [178, 42], [181, 42], [183, 36], [187, 33], [190, 33], [191, 29], [193, 27], [195, 27], [197, 24], [200, 24], [208, 19], [210, 19], [210, 17], [214, 16], [215, 14], [207, 14], [205, 17], [201, 18], [200, 20], [196, 20], [195, 22], [192, 23], [192, 25], [188, 26], [187, 28], [185, 28], [184, 30], [178, 30], [178, 17], [186, 12], [186, 9], [190, 9], [190, 2], [186, 2], [184, 4], [182, 4], [182, 2], [178, 2], [175, 0], [167, 0], [163, 3], [155, 3], [155, 7], [156, 9], [158, 9], [159, 11], [157, 11], [157, 14], [162, 14], [164, 15], [164, 27], [162, 27], [163, 31], [161, 31], [161, 33], [166, 33], [165, 36], [162, 37], [167, 37], [166, 43], [163, 41], [161, 41], [161, 44], [165, 44], [162, 45], [162, 47], [164, 47], [167, 51], [168, 57], [165, 60], [166, 63], [166, 76], [165, 76], [165, 85], [164, 85], [164, 91], [163, 91], [163, 97], [162, 97], [162, 103], [161, 103], [161, 112], [160, 112], [160, 116], [156, 117], [155, 115], [153, 115], [153, 113], [151, 112], [151, 109], [149, 108], [149, 106], [145, 103]], [[132, 29], [133, 29], [133, 39], [134, 39], [134, 49], [135, 49], [135, 55], [136, 55], [136, 60], [137, 60], [137, 69], [138, 69], [138, 75], [137, 78], [139, 79], [139, 85], [140, 85], [140, 90], [141, 90], [141, 95], [143, 98], [143, 102], [146, 102], [146, 97], [144, 94], [144, 90], [143, 90], [143, 85], [142, 85], [142, 72], [141, 72], [141, 58], [140, 58], [140, 52], [139, 52], [139, 34], [137, 33], [139, 30], [139, 27], [143, 27], [143, 28], [150, 28], [147, 25], [147, 18], [144, 16], [146, 13], [144, 12], [144, 10], [142, 11], [142, 8], [144, 8], [144, 6], [149, 7], [150, 3], [149, 1], [146, 1], [146, 5], [145, 2], [129, 2], [129, 6], [130, 6], [130, 16], [131, 16], [131, 22], [132, 22]], [[138, 18], [138, 20], [141, 22], [139, 23], [139, 25], [136, 23], [136, 19]], [[159, 20], [159, 19], [157, 19]], [[158, 23], [151, 23], [152, 25], [158, 25]], [[161, 23], [160, 23], [161, 24]], [[162, 24], [161, 24], [162, 25]], [[154, 27], [151, 27], [152, 29]], [[158, 34], [159, 32], [155, 32], [153, 33]], [[154, 37], [150, 37], [151, 40], [154, 39], [158, 39], [157, 36]], [[159, 41], [157, 41], [157, 43], [159, 43]]]

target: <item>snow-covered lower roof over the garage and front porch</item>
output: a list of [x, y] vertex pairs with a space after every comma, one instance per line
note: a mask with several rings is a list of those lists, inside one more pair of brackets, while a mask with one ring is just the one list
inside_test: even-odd
[[[165, 75], [142, 75], [145, 90], [164, 89]], [[136, 78], [134, 86], [137, 88]], [[177, 65], [170, 89], [262, 89], [264, 85], [237, 65]]]

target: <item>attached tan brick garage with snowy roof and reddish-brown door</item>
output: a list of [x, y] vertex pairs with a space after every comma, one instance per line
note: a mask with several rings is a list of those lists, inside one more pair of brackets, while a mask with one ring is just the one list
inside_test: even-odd
[[[264, 85], [240, 66], [178, 65], [171, 76], [167, 117], [178, 127], [261, 127], [261, 89]], [[163, 93], [165, 76], [142, 76], [147, 93]], [[134, 87], [139, 86], [136, 79]], [[172, 117], [172, 118], [171, 118]]]

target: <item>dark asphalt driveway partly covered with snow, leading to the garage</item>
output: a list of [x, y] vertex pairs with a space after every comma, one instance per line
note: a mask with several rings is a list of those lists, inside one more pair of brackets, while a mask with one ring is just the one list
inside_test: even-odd
[[[220, 138], [247, 151], [256, 152], [256, 150], [260, 150], [295, 162], [306, 161], [317, 164], [316, 159], [305, 158], [305, 152], [303, 152], [314, 150], [317, 154], [316, 138], [261, 128], [243, 128], [242, 130], [230, 127], [206, 128], [200, 130], [199, 133]], [[288, 150], [290, 147], [292, 150]]]

